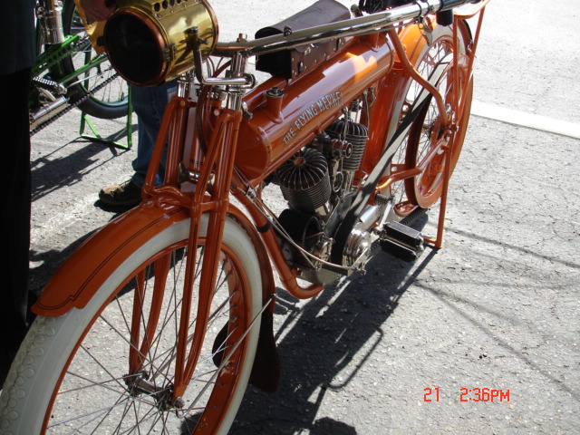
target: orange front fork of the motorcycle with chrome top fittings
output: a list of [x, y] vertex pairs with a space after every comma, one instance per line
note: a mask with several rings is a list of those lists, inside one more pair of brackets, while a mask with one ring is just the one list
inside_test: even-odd
[[[196, 62], [198, 81], [202, 85], [216, 86], [216, 92], [219, 96], [220, 104], [214, 105], [212, 109], [212, 114], [216, 116], [214, 130], [207, 143], [202, 143], [204, 140], [196, 133], [193, 135], [192, 143], [189, 143], [187, 135], [189, 111], [195, 111], [198, 104], [187, 97], [193, 86], [194, 77], [191, 74], [186, 75], [179, 83], [178, 95], [169, 102], [163, 115], [150, 168], [143, 186], [144, 201], [141, 207], [179, 206], [189, 210], [191, 218], [188, 241], [189, 255], [179, 319], [172, 402], [178, 401], [179, 397], [186, 391], [198, 363], [201, 345], [205, 338], [205, 326], [208, 324], [213, 297], [208, 289], [214, 288], [217, 280], [219, 253], [229, 208], [230, 185], [237, 150], [237, 133], [243, 116], [244, 103], [242, 98], [246, 88], [254, 83], [253, 77], [246, 73], [246, 67], [246, 57], [237, 54], [231, 60], [226, 78], [206, 78], [201, 74], [202, 64], [199, 55], [198, 62]], [[155, 186], [155, 174], [160, 167], [166, 140], [168, 141], [168, 152], [165, 179], [161, 186]], [[190, 170], [191, 165], [185, 171], [187, 181], [193, 183], [194, 189], [191, 193], [184, 193], [179, 189], [179, 185], [183, 181], [184, 171], [179, 169], [183, 169], [182, 161], [184, 155], [187, 154], [186, 151], [189, 152], [188, 147], [192, 153], [196, 153], [198, 147], [205, 149], [205, 152], [202, 153], [203, 159], [200, 164], [198, 162], [195, 165], [195, 169], [197, 169], [195, 172]], [[195, 155], [199, 156], [200, 154], [197, 152]], [[199, 227], [204, 214], [208, 216], [208, 230], [201, 274], [196, 276]], [[189, 343], [190, 313], [196, 279], [200, 289], [198, 318], [193, 331], [193, 339]], [[133, 360], [131, 359], [131, 361]], [[131, 372], [139, 372], [139, 370], [139, 363], [135, 363], [131, 367]]]

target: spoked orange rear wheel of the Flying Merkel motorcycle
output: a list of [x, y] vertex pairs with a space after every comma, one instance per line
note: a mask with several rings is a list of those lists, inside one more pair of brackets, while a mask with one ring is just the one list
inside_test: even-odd
[[[459, 55], [462, 55], [465, 53], [468, 30], [464, 25], [461, 25], [460, 29]], [[420, 53], [418, 62], [415, 63], [415, 68], [423, 77], [431, 82], [434, 81], [445, 102], [450, 102], [452, 67], [447, 67], [439, 77], [433, 77], [433, 74], [439, 71], [441, 63], [449, 63], [451, 55], [457, 55], [457, 53], [452, 52], [453, 33], [451, 28], [440, 25], [433, 30], [432, 36], [432, 42], [425, 45], [422, 53]], [[459, 122], [459, 131], [456, 133], [453, 143], [449, 143], [448, 138], [438, 136], [437, 132], [440, 131], [438, 127], [440, 128], [441, 126], [439, 111], [435, 101], [430, 99], [428, 107], [420, 112], [418, 118], [412, 123], [407, 135], [402, 140], [401, 146], [395, 152], [391, 160], [391, 176], [403, 170], [420, 168], [430, 150], [440, 152], [443, 147], [447, 146], [453, 146], [451, 170], [455, 168], [465, 137], [465, 131], [467, 130], [467, 122], [469, 121], [472, 89], [473, 83], [470, 83], [465, 111], [461, 114], [461, 117], [458, 118], [457, 115], [453, 115], [456, 119], [461, 120]], [[399, 123], [413, 109], [422, 91], [423, 88], [417, 82], [410, 81], [405, 97], [402, 100]], [[444, 165], [445, 162], [442, 159], [442, 153], [440, 153], [438, 157], [431, 160], [431, 164], [422, 170], [419, 176], [391, 184], [391, 196], [394, 198], [393, 203], [395, 204], [394, 210], [398, 216], [405, 217], [409, 215], [417, 206], [429, 208], [440, 198], [442, 189], [441, 175]]]

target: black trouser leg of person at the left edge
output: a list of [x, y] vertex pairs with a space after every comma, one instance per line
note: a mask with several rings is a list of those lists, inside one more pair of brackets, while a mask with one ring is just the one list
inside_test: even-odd
[[28, 251], [30, 249], [30, 133], [28, 92], [30, 69], [0, 77], [0, 131], [4, 140], [5, 190], [0, 225], [2, 247], [8, 253], [0, 262], [0, 385], [26, 333], [28, 310]]

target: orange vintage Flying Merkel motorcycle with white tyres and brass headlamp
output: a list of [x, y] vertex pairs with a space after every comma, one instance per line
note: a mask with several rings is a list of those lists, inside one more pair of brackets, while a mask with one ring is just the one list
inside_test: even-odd
[[[272, 266], [309, 298], [381, 248], [412, 260], [440, 247], [486, 5], [320, 0], [224, 43], [205, 0], [119, 1], [111, 63], [136, 84], [179, 77], [178, 96], [140, 206], [34, 306], [3, 433], [227, 433], [248, 382], [277, 385]], [[257, 85], [254, 56], [271, 76]], [[437, 201], [423, 237], [411, 223]]]

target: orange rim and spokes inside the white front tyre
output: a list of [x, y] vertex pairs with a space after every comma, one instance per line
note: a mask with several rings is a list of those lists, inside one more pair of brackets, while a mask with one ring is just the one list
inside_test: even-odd
[[[186, 242], [162, 250], [135, 270], [92, 320], [53, 394], [45, 433], [79, 427], [80, 433], [132, 433], [138, 425], [160, 433], [214, 433], [219, 428], [245, 361], [244, 332], [252, 320], [246, 308], [247, 278], [225, 247], [198, 367], [186, 394], [171, 401]], [[202, 257], [203, 246], [198, 265]], [[197, 293], [195, 289], [194, 297]], [[192, 306], [197, 306], [195, 300]], [[132, 320], [135, 307], [138, 328]], [[192, 313], [189, 339], [195, 317]], [[218, 372], [220, 363], [224, 367]]]

